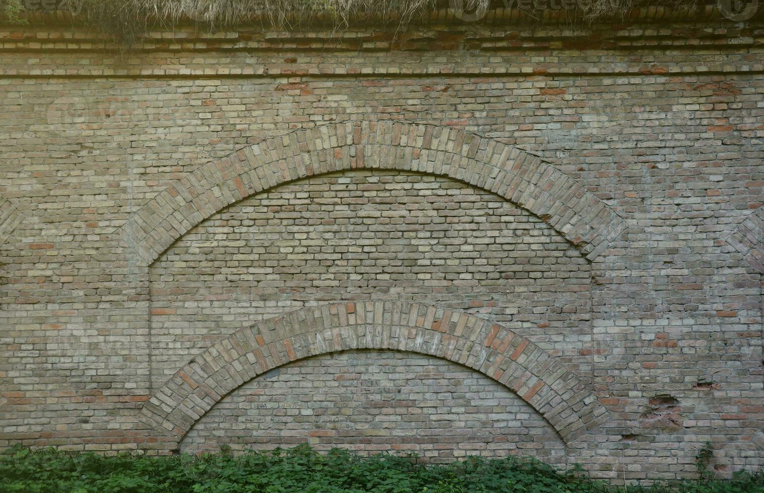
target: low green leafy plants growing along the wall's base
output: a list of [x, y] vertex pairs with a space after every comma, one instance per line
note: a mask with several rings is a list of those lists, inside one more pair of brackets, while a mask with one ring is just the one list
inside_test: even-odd
[[0, 454], [0, 492], [43, 493], [764, 493], [764, 475], [733, 481], [652, 487], [608, 486], [585, 477], [580, 467], [560, 472], [533, 459], [471, 458], [425, 465], [415, 456], [369, 458], [341, 449], [316, 453], [308, 446], [233, 456], [229, 448], [203, 456], [140, 456], [33, 451], [14, 447]]

